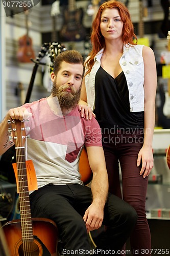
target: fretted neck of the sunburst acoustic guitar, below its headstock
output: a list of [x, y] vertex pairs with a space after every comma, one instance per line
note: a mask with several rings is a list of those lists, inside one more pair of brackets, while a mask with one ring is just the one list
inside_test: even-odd
[[33, 240], [33, 226], [31, 221], [25, 147], [16, 147], [15, 150], [17, 162], [22, 240], [28, 242]]

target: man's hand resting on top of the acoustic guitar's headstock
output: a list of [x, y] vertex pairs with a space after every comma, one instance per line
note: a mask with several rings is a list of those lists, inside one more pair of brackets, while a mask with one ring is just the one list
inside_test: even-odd
[[22, 108], [19, 106], [18, 108], [10, 109], [7, 113], [7, 117], [10, 119], [17, 119], [17, 120], [23, 120], [23, 119], [29, 119], [29, 117], [32, 116], [32, 113], [28, 112], [26, 108]]

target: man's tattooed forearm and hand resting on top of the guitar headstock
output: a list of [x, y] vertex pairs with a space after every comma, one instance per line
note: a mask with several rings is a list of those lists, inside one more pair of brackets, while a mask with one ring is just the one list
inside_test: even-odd
[[4, 154], [8, 148], [10, 148], [14, 143], [9, 141], [10, 133], [8, 132], [9, 124], [8, 120], [12, 119], [28, 119], [32, 114], [28, 112], [26, 108], [18, 107], [10, 109], [5, 116], [4, 120], [0, 124], [0, 156]]

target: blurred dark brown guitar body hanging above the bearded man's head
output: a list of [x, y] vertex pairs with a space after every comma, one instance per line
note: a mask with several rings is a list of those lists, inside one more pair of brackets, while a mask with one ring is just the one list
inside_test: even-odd
[[64, 12], [64, 25], [61, 29], [61, 37], [64, 41], [81, 41], [85, 38], [86, 30], [82, 25], [83, 9]]

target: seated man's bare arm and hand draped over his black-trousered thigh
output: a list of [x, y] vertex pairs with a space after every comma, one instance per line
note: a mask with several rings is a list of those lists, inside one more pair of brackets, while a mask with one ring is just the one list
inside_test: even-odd
[[83, 217], [87, 232], [101, 227], [104, 218], [104, 206], [108, 196], [108, 175], [103, 147], [88, 146], [87, 155], [93, 173], [91, 182], [92, 203]]

